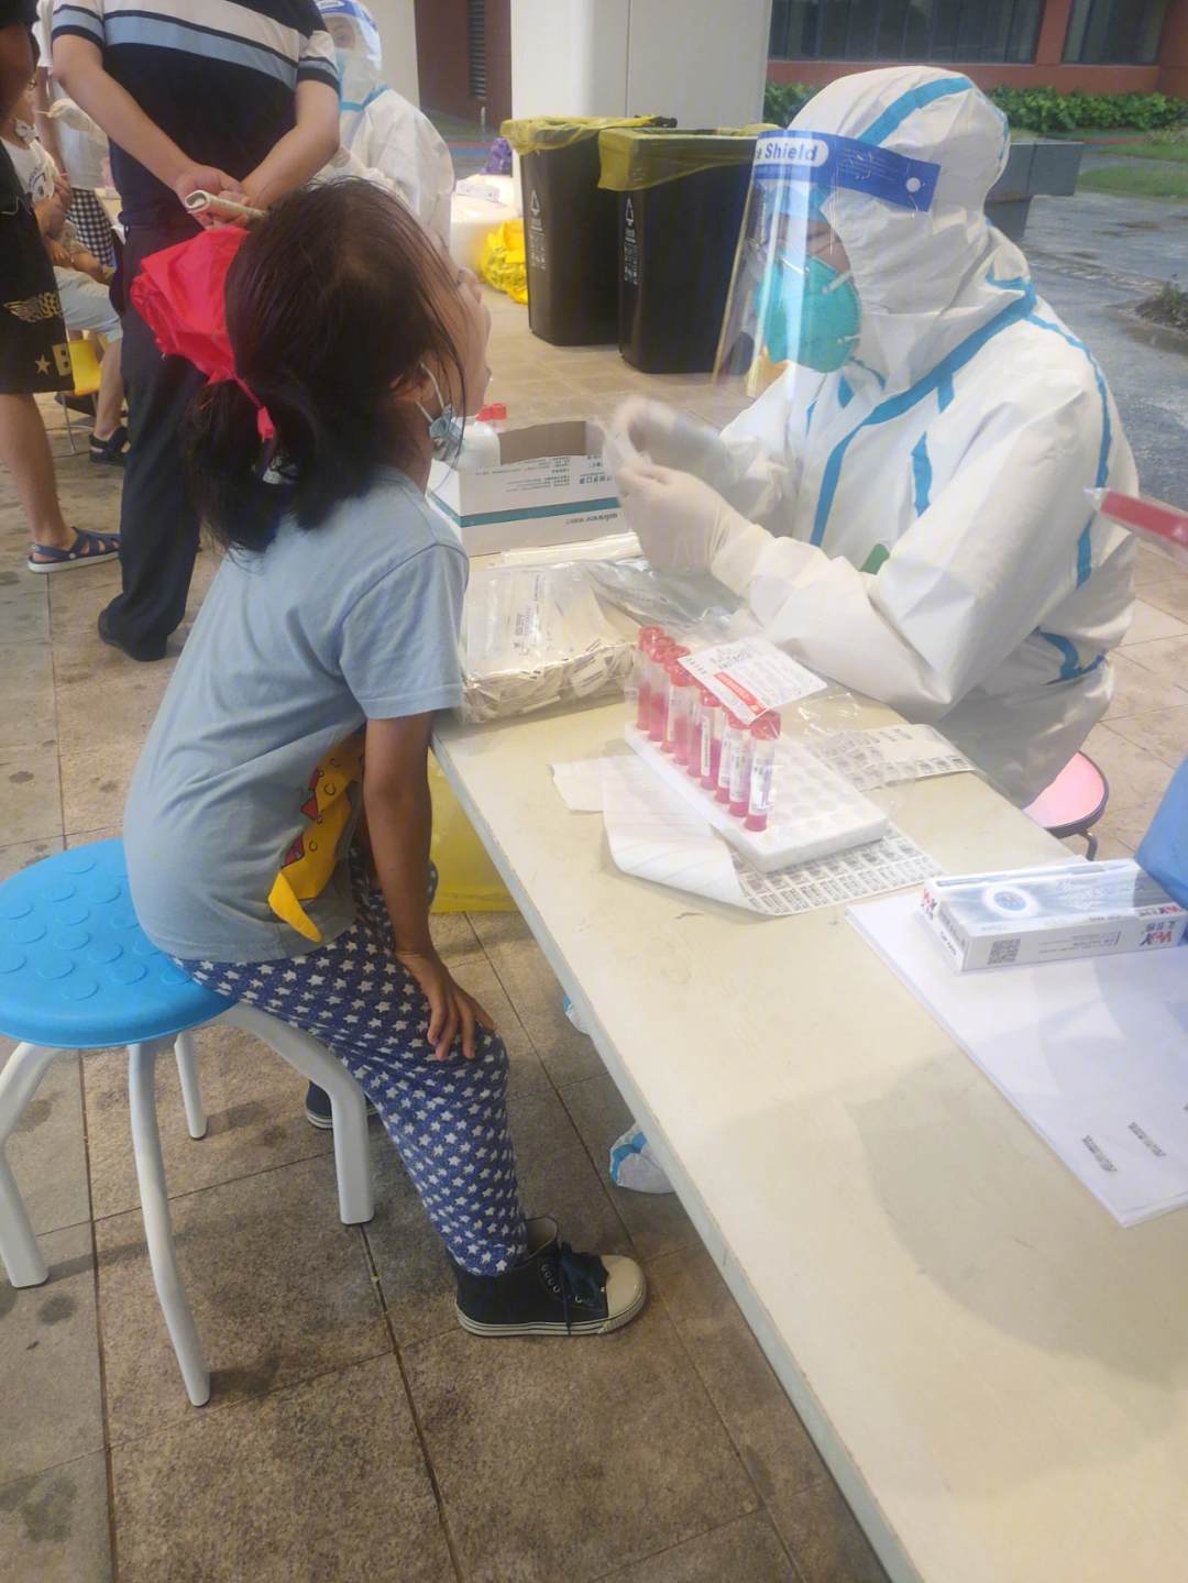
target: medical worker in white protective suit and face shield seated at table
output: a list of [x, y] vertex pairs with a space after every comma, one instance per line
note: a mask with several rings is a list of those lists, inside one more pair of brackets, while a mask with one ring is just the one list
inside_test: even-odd
[[[718, 437], [633, 397], [655, 565], [709, 567], [791, 654], [930, 720], [1017, 804], [1110, 697], [1136, 489], [1090, 351], [982, 212], [1006, 122], [962, 76], [842, 78], [764, 138], [725, 351], [783, 374]], [[742, 359], [742, 361], [740, 361]]]

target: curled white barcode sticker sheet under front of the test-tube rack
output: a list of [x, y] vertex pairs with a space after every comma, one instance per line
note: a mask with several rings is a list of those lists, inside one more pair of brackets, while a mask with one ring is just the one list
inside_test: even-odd
[[878, 896], [938, 872], [927, 853], [892, 829], [883, 841], [832, 858], [759, 874], [642, 760], [623, 754], [595, 763], [603, 771], [611, 855], [638, 879], [780, 918]]

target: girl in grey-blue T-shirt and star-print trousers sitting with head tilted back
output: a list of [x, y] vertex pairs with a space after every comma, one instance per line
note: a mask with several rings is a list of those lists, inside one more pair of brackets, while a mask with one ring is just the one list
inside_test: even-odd
[[138, 917], [201, 983], [346, 1064], [467, 1330], [615, 1330], [644, 1274], [525, 1220], [506, 1051], [429, 934], [429, 735], [462, 700], [467, 557], [424, 489], [487, 385], [478, 282], [394, 196], [332, 182], [248, 231], [226, 329], [237, 380], [201, 393], [190, 454], [228, 556], [128, 795]]

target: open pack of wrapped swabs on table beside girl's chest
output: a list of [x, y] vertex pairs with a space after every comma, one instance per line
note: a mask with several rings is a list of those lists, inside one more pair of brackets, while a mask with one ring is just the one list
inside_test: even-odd
[[607, 621], [585, 564], [471, 570], [463, 720], [532, 714], [622, 689], [631, 665], [633, 644]]

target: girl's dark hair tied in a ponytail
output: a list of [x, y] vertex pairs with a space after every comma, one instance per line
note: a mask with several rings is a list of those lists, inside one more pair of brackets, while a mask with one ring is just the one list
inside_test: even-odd
[[239, 378], [275, 426], [283, 481], [264, 481], [248, 394], [207, 385], [190, 410], [187, 456], [221, 545], [267, 548], [285, 511], [318, 527], [380, 465], [399, 464], [408, 446], [384, 400], [392, 386], [429, 358], [463, 382], [441, 317], [452, 282], [414, 215], [372, 182], [293, 193], [253, 228], [228, 271], [226, 328]]

